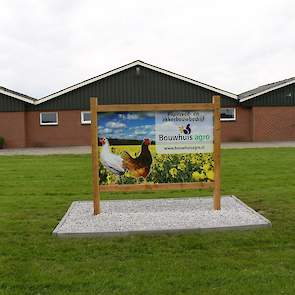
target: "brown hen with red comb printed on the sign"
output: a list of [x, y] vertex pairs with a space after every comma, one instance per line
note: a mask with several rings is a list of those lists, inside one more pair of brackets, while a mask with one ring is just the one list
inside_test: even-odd
[[146, 178], [149, 175], [150, 168], [152, 165], [152, 155], [149, 150], [151, 144], [150, 139], [145, 138], [141, 145], [141, 152], [138, 157], [133, 158], [128, 152], [123, 152], [123, 168], [127, 169], [132, 176], [139, 179], [143, 177], [146, 182]]

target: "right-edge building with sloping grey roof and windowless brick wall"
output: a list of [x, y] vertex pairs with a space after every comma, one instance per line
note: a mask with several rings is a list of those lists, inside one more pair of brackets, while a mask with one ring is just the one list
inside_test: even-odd
[[295, 140], [295, 77], [238, 95], [249, 113], [250, 141]]

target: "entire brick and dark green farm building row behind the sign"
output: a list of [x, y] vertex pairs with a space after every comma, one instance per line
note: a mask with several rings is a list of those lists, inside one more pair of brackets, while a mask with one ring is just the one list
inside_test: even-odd
[[240, 95], [135, 61], [41, 99], [0, 87], [6, 147], [90, 145], [90, 97], [101, 104], [203, 103], [221, 96], [222, 141], [295, 140], [295, 78]]

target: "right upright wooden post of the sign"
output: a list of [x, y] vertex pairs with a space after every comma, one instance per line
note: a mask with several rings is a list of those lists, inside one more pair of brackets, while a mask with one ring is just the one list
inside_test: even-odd
[[221, 165], [220, 165], [220, 143], [221, 143], [221, 123], [220, 123], [220, 96], [213, 96], [214, 104], [214, 210], [220, 210], [221, 199]]

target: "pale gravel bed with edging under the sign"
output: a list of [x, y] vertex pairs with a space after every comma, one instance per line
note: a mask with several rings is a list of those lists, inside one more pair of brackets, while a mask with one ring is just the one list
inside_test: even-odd
[[94, 216], [92, 202], [77, 201], [53, 234], [120, 235], [271, 226], [269, 220], [234, 196], [223, 196], [221, 205], [221, 210], [213, 210], [211, 197], [102, 201], [102, 213]]

